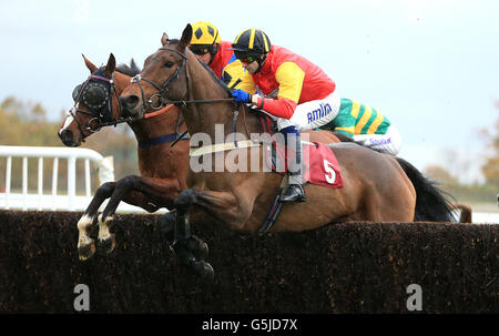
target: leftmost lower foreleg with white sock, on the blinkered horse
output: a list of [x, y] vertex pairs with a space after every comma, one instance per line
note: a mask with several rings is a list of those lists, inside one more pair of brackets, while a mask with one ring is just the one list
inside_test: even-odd
[[102, 184], [95, 192], [92, 201], [86, 207], [83, 216], [78, 221], [78, 253], [81, 261], [90, 258], [95, 253], [95, 244], [89, 236], [88, 231], [95, 221], [96, 213], [101, 204], [111, 196], [115, 187], [115, 182]]

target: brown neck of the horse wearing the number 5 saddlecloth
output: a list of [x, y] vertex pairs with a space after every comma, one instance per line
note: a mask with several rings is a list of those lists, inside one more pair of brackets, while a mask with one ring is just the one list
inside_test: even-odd
[[[230, 95], [224, 88], [217, 83], [216, 79], [197, 60], [190, 62], [189, 72], [189, 100], [216, 100], [227, 99]], [[185, 124], [190, 134], [205, 133], [210, 135], [212, 142], [225, 141], [227, 135], [233, 133], [234, 112], [238, 110], [236, 132], [257, 132], [256, 116], [243, 110], [244, 106], [234, 102], [207, 102], [191, 103], [184, 108]], [[244, 114], [243, 114], [244, 113]], [[223, 134], [221, 134], [223, 130]]]

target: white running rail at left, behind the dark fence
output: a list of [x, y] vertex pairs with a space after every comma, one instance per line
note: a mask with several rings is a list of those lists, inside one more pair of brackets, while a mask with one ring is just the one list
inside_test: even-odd
[[[0, 192], [1, 208], [85, 210], [91, 197], [90, 162], [99, 171], [99, 185], [114, 181], [113, 156], [103, 157], [89, 149], [0, 145], [0, 160], [7, 159], [6, 187]], [[11, 193], [12, 157], [22, 159], [22, 192]], [[28, 192], [28, 159], [38, 157], [38, 192]], [[53, 159], [52, 193], [43, 194], [43, 159]], [[58, 195], [59, 160], [68, 160], [68, 194]], [[77, 160], [84, 160], [85, 196], [77, 195]], [[14, 172], [17, 173], [17, 172]], [[80, 176], [79, 176], [80, 177]]]

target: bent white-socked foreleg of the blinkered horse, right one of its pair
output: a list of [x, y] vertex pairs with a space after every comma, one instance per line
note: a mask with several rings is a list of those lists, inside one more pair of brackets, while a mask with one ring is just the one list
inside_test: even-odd
[[110, 232], [113, 215], [121, 201], [154, 212], [160, 207], [172, 207], [180, 193], [175, 179], [152, 179], [135, 175], [126, 176], [116, 183], [111, 200], [99, 216], [99, 251], [111, 253], [115, 245], [114, 234]]

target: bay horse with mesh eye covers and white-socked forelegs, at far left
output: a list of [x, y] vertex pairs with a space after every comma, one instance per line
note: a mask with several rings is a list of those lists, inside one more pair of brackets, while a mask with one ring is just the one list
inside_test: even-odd
[[[120, 202], [140, 206], [151, 213], [161, 207], [173, 208], [174, 200], [186, 187], [189, 138], [184, 136], [171, 147], [173, 141], [185, 131], [180, 109], [174, 105], [154, 110], [141, 120], [121, 118], [119, 96], [130, 84], [132, 75], [139, 73], [133, 62], [132, 67], [121, 65], [116, 69], [113, 54], [110, 54], [106, 65], [101, 68], [85, 57], [83, 60], [90, 70], [90, 78], [73, 92], [74, 106], [69, 111], [58, 135], [64, 145], [79, 146], [102, 126], [126, 122], [138, 140], [141, 174], [129, 175], [118, 182], [106, 182], [96, 190], [78, 222], [78, 250], [80, 259], [84, 261], [95, 252], [94, 241], [88, 234], [94, 222], [99, 222], [100, 227], [99, 251], [111, 253], [114, 248], [114, 234], [110, 233], [109, 227]], [[106, 198], [110, 201], [98, 216], [99, 207]], [[192, 243], [195, 242], [193, 237]]]

